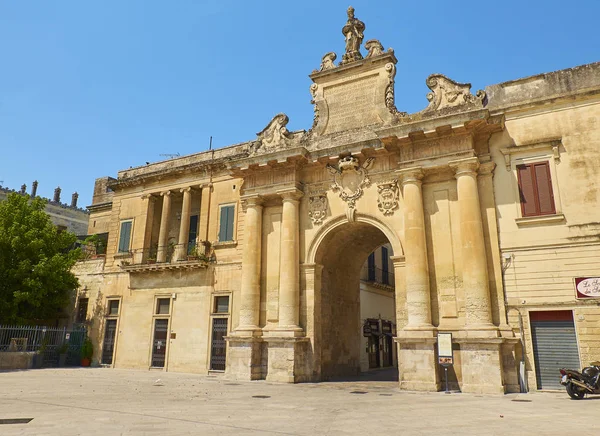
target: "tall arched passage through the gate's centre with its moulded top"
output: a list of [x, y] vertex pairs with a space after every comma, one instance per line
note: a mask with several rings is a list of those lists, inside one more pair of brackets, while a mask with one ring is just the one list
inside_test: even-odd
[[[311, 260], [322, 266], [320, 287], [315, 289], [321, 379], [397, 378], [390, 257], [401, 254], [401, 247], [395, 235], [363, 216], [356, 222], [330, 223], [313, 248]], [[380, 367], [388, 369], [373, 372]]]

